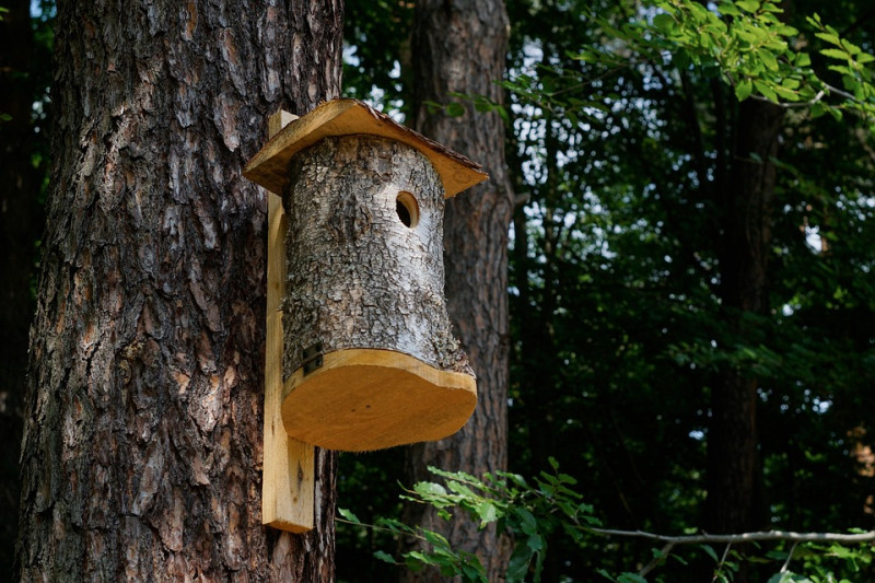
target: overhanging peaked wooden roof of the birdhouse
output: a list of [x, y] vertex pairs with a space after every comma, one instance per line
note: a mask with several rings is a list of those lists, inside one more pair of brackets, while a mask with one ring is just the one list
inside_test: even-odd
[[357, 133], [383, 136], [422, 152], [440, 174], [446, 198], [489, 178], [479, 164], [357, 100], [323, 103], [290, 124], [246, 164], [243, 175], [272, 193], [281, 194], [288, 182], [289, 161], [296, 152], [329, 136]]

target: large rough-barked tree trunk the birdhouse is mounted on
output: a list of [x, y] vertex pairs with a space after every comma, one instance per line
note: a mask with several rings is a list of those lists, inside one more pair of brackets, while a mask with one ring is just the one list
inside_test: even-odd
[[264, 191], [283, 105], [338, 93], [342, 9], [62, 2], [55, 165], [23, 442], [24, 581], [329, 581], [260, 524]]

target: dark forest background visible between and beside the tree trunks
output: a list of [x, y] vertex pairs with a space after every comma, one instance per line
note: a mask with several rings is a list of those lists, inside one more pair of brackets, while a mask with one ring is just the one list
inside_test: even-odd
[[[745, 3], [735, 2], [743, 13]], [[748, 14], [759, 13], [754, 4]], [[594, 515], [616, 528], [681, 534], [732, 522], [720, 517], [714, 492], [743, 491], [749, 508], [736, 532], [871, 530], [875, 141], [866, 104], [875, 97], [861, 55], [873, 53], [875, 9], [785, 2], [780, 23], [790, 28], [771, 28], [785, 46], [750, 39], [754, 57], [732, 69], [714, 58], [726, 51], [713, 50], [709, 34], [660, 16], [672, 5], [508, 2], [508, 72], [494, 80], [506, 105], [478, 95], [433, 104], [462, 118], [500, 110], [505, 121], [518, 201], [509, 469], [534, 476], [557, 459]], [[399, 119], [413, 102], [415, 8], [347, 2], [345, 92]], [[21, 91], [0, 91], [4, 515], [18, 503], [12, 445], [51, 123], [52, 7], [27, 12], [28, 38], [0, 38], [4, 67], [26, 71], [3, 78]], [[814, 14], [820, 20], [806, 19]], [[842, 47], [847, 58], [830, 54]], [[801, 53], [808, 62], [788, 57]], [[833, 91], [821, 95], [809, 73]], [[738, 418], [719, 417], [726, 395], [744, 401]], [[721, 483], [745, 455], [750, 480]], [[400, 515], [402, 462], [398, 451], [341, 456], [339, 505], [365, 522]], [[7, 565], [15, 521], [1, 528]], [[388, 536], [341, 525], [338, 537], [338, 580], [397, 576], [373, 558], [394, 550]], [[652, 545], [635, 540], [548, 543], [547, 581], [590, 581], [597, 569], [627, 571], [652, 558]], [[771, 560], [774, 572], [783, 559]], [[685, 569], [667, 563], [658, 573], [680, 580]], [[849, 576], [871, 580], [868, 569]]]

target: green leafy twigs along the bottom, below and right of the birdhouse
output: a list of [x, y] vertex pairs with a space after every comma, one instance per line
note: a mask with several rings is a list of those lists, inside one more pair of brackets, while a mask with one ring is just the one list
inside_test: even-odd
[[[429, 468], [442, 478], [442, 482], [419, 482], [401, 495], [404, 500], [430, 504], [438, 514], [452, 521], [454, 512], [463, 512], [480, 522], [480, 526], [495, 522], [501, 530], [510, 533], [514, 539], [514, 550], [508, 565], [505, 581], [539, 582], [544, 575], [544, 564], [548, 553], [548, 539], [560, 533], [575, 547], [583, 549], [600, 536], [643, 537], [667, 543], [662, 548], [651, 549], [652, 560], [637, 572], [626, 571], [614, 574], [607, 569], [594, 571], [609, 581], [619, 583], [645, 582], [646, 575], [675, 560], [682, 565], [689, 562], [677, 547], [695, 545], [701, 553], [713, 562], [713, 581], [734, 580], [743, 562], [767, 565], [774, 574], [769, 583], [780, 582], [831, 582], [839, 581], [842, 573], [860, 576], [864, 568], [872, 563], [875, 550], [872, 541], [875, 533], [860, 533], [862, 537], [830, 534], [798, 533], [747, 533], [739, 535], [688, 535], [661, 536], [642, 532], [608, 530], [600, 528], [594, 516], [594, 509], [582, 502], [582, 495], [572, 489], [576, 480], [559, 473], [558, 463], [550, 459], [551, 471], [542, 471], [529, 485], [522, 476], [500, 473], [487, 474], [482, 479], [464, 471], [443, 471]], [[377, 550], [374, 557], [390, 564], [405, 564], [419, 571], [425, 568], [438, 569], [443, 576], [458, 576], [463, 582], [486, 583], [486, 574], [479, 559], [465, 551], [453, 549], [450, 541], [438, 533], [420, 526], [410, 526], [394, 518], [380, 518], [375, 525], [365, 524], [349, 510], [340, 510], [340, 522], [365, 529], [378, 529], [404, 539], [415, 537], [427, 543], [427, 551], [401, 552], [402, 561], [393, 555]], [[820, 543], [806, 541], [820, 539]], [[768, 540], [777, 543], [771, 550], [758, 547], [757, 551], [739, 552], [733, 546], [744, 543]], [[862, 541], [861, 541], [862, 540]], [[803, 541], [800, 545], [800, 541]], [[714, 549], [715, 543], [723, 543], [721, 553]], [[792, 563], [800, 564], [798, 573], [790, 570]], [[657, 580], [661, 578], [657, 576]], [[841, 579], [841, 581], [847, 581]]]

